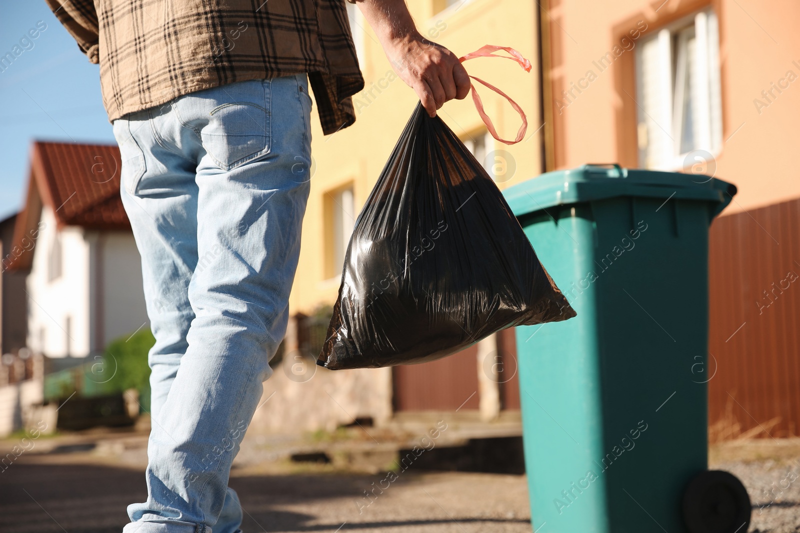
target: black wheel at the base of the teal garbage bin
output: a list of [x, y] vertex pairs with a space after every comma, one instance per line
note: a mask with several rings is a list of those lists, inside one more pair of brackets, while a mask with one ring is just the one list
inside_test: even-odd
[[750, 527], [750, 496], [730, 472], [696, 475], [683, 493], [682, 507], [690, 533], [746, 533]]

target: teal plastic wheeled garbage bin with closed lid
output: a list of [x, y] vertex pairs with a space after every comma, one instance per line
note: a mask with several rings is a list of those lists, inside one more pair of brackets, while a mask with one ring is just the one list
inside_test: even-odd
[[708, 227], [735, 193], [619, 165], [506, 189], [578, 312], [516, 330], [536, 533], [747, 531], [742, 484], [706, 471]]

